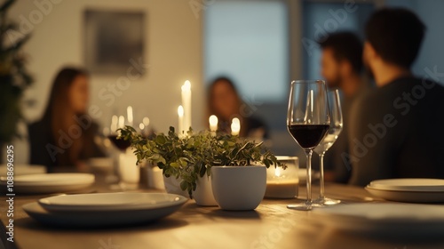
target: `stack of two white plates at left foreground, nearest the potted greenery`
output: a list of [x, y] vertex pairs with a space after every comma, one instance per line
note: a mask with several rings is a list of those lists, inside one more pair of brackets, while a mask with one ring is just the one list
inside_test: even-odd
[[102, 193], [47, 197], [23, 205], [29, 216], [63, 227], [132, 225], [176, 212], [186, 197], [163, 193]]

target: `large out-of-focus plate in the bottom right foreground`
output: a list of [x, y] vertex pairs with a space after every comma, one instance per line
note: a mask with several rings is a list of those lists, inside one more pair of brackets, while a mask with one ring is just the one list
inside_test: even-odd
[[335, 229], [381, 235], [444, 234], [444, 206], [365, 203], [314, 209], [311, 219]]

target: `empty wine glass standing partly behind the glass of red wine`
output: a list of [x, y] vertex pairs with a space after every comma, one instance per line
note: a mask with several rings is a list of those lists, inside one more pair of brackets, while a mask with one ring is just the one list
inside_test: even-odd
[[328, 93], [329, 99], [329, 113], [330, 113], [330, 126], [329, 132], [325, 136], [324, 140], [314, 149], [319, 155], [320, 169], [321, 169], [321, 183], [320, 183], [320, 194], [317, 199], [313, 201], [315, 204], [320, 205], [337, 205], [340, 203], [340, 200], [332, 199], [325, 197], [325, 186], [324, 186], [324, 156], [327, 150], [337, 141], [337, 137], [342, 132], [343, 127], [343, 119], [342, 119], [342, 110], [341, 110], [341, 100], [339, 97], [339, 91], [329, 91]]

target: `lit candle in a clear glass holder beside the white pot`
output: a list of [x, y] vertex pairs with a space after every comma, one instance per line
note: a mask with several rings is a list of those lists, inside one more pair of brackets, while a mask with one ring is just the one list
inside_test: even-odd
[[287, 165], [284, 170], [281, 167], [271, 165], [266, 170], [266, 197], [269, 198], [294, 198], [297, 197], [297, 174], [299, 162], [297, 157], [277, 157]]

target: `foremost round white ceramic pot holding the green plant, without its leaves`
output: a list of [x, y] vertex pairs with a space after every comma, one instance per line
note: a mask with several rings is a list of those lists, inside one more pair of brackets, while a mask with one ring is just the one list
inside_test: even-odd
[[220, 208], [253, 210], [266, 194], [266, 166], [213, 166], [211, 186]]

